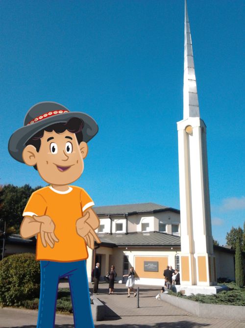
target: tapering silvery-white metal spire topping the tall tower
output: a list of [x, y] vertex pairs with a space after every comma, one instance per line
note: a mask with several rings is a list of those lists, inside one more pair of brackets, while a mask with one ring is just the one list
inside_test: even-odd
[[196, 89], [196, 75], [192, 50], [192, 37], [185, 0], [185, 53], [184, 53], [184, 119], [200, 117]]

